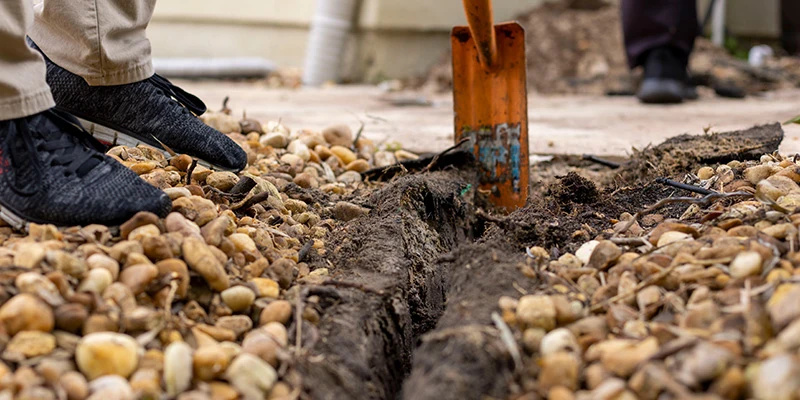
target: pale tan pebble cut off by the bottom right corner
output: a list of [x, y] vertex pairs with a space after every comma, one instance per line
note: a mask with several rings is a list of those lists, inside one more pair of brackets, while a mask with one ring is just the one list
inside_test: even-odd
[[784, 354], [758, 365], [755, 374], [747, 374], [753, 397], [760, 400], [794, 399], [800, 390], [800, 362], [797, 356]]

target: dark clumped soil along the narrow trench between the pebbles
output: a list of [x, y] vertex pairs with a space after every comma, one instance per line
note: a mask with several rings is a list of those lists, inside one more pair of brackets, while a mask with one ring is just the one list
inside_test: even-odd
[[[458, 169], [440, 163], [436, 172], [393, 172], [382, 189], [353, 199], [369, 215], [333, 231], [328, 253], [312, 262], [329, 269], [330, 279], [307, 282], [296, 293], [296, 301], [320, 315], [316, 326], [289, 330], [292, 341], [301, 338], [292, 368], [305, 397], [442, 400], [518, 392], [520, 360], [493, 319], [497, 301], [569, 285], [541, 275], [526, 249], [544, 248], [550, 259], [574, 253], [609, 237], [624, 213], [693, 195], [655, 177], [682, 180], [700, 163], [757, 159], [782, 135], [779, 125], [768, 125], [681, 136], [636, 152], [619, 169], [558, 158], [533, 167], [547, 177], [546, 189], [509, 215], [476, 206], [478, 175], [464, 157], [451, 158]], [[568, 172], [548, 176], [548, 170]], [[686, 207], [659, 213], [677, 218]]]

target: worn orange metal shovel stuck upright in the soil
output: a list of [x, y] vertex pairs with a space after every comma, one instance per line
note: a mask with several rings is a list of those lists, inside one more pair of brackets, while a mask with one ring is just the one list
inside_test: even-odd
[[528, 200], [525, 30], [494, 26], [491, 0], [463, 0], [469, 26], [453, 29], [455, 140], [468, 138], [483, 167], [481, 189], [510, 212]]

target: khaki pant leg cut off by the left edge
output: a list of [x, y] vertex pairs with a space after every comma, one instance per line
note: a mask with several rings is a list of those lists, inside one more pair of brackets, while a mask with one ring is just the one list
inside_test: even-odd
[[55, 106], [42, 56], [28, 47], [30, 0], [0, 1], [0, 120], [27, 117]]

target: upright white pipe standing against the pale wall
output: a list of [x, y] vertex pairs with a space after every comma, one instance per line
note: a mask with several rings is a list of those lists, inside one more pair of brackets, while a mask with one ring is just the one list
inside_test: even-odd
[[317, 0], [311, 22], [303, 83], [318, 86], [339, 80], [339, 67], [358, 0]]

